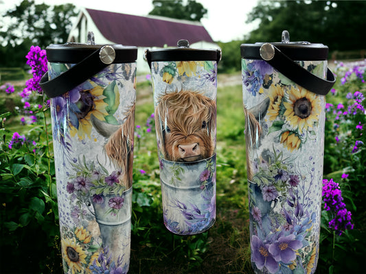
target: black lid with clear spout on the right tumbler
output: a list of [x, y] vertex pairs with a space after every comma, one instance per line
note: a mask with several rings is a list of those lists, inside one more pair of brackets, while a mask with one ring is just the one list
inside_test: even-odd
[[[240, 53], [244, 59], [262, 59], [260, 56], [260, 47], [264, 42], [256, 42], [255, 44], [240, 45]], [[290, 35], [285, 30], [282, 32], [282, 42], [269, 42], [277, 47], [288, 58], [297, 61], [317, 61], [327, 60], [328, 47], [323, 44], [312, 44], [310, 42], [290, 42]]]

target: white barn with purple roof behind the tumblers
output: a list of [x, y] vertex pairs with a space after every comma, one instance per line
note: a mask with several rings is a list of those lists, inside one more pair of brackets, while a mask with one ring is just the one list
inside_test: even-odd
[[144, 51], [148, 48], [176, 47], [176, 42], [181, 39], [188, 40], [192, 48], [219, 48], [199, 22], [82, 8], [76, 23], [71, 28], [67, 42], [86, 43], [88, 32], [93, 32], [95, 44], [137, 47], [139, 74], [150, 71], [148, 63], [144, 60]]

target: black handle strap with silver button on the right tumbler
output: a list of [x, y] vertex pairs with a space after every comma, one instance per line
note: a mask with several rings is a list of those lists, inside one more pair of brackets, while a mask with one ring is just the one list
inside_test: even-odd
[[271, 64], [273, 68], [288, 77], [288, 79], [318, 95], [327, 95], [336, 82], [334, 74], [329, 68], [327, 69], [327, 79], [318, 77], [269, 43], [260, 47], [260, 56], [268, 64]]

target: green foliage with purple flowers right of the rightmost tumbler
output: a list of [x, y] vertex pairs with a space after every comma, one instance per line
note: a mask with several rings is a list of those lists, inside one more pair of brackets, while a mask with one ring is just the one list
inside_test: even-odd
[[[361, 273], [366, 226], [363, 201], [366, 195], [366, 100], [362, 99], [366, 94], [365, 64], [360, 69], [356, 64], [340, 63], [335, 73], [338, 75], [336, 85], [327, 95], [324, 177], [339, 183], [343, 202], [352, 212], [354, 229], [337, 236], [328, 226], [334, 216], [323, 210], [318, 271]], [[359, 141], [363, 143], [356, 145]]]

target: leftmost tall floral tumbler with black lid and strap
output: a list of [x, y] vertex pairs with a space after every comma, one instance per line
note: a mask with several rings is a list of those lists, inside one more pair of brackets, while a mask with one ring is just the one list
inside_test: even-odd
[[46, 53], [63, 269], [127, 273], [137, 48], [71, 43]]

